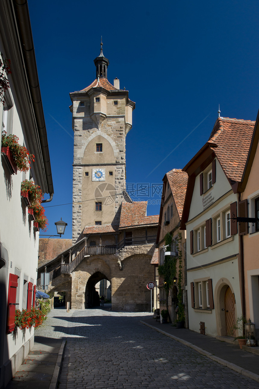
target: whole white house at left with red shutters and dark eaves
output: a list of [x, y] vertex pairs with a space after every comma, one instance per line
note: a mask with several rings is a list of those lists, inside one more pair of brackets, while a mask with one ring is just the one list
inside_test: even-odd
[[[14, 333], [15, 308], [33, 305], [37, 282], [39, 232], [21, 198], [21, 182], [33, 180], [42, 194], [53, 195], [47, 133], [31, 38], [28, 5], [0, 3], [1, 60], [10, 60], [10, 88], [0, 103], [2, 131], [35, 154], [28, 172], [12, 171], [1, 152], [0, 164], [0, 388], [7, 385], [33, 347], [34, 328]], [[26, 54], [27, 53], [27, 54]], [[30, 70], [29, 70], [30, 68]], [[1, 142], [2, 146], [2, 142]], [[1, 148], [2, 151], [2, 148]]]

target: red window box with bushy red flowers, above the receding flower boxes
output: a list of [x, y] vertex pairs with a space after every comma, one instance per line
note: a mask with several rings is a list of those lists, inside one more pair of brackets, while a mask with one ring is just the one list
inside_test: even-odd
[[34, 155], [30, 154], [26, 147], [18, 143], [16, 135], [6, 135], [2, 132], [1, 154], [7, 162], [11, 174], [17, 174], [17, 170], [28, 172], [31, 161], [34, 162]]

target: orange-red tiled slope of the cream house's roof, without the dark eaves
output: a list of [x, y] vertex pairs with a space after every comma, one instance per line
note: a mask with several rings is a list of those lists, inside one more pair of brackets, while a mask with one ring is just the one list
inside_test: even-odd
[[255, 121], [218, 117], [208, 143], [229, 180], [240, 182], [247, 160]]

